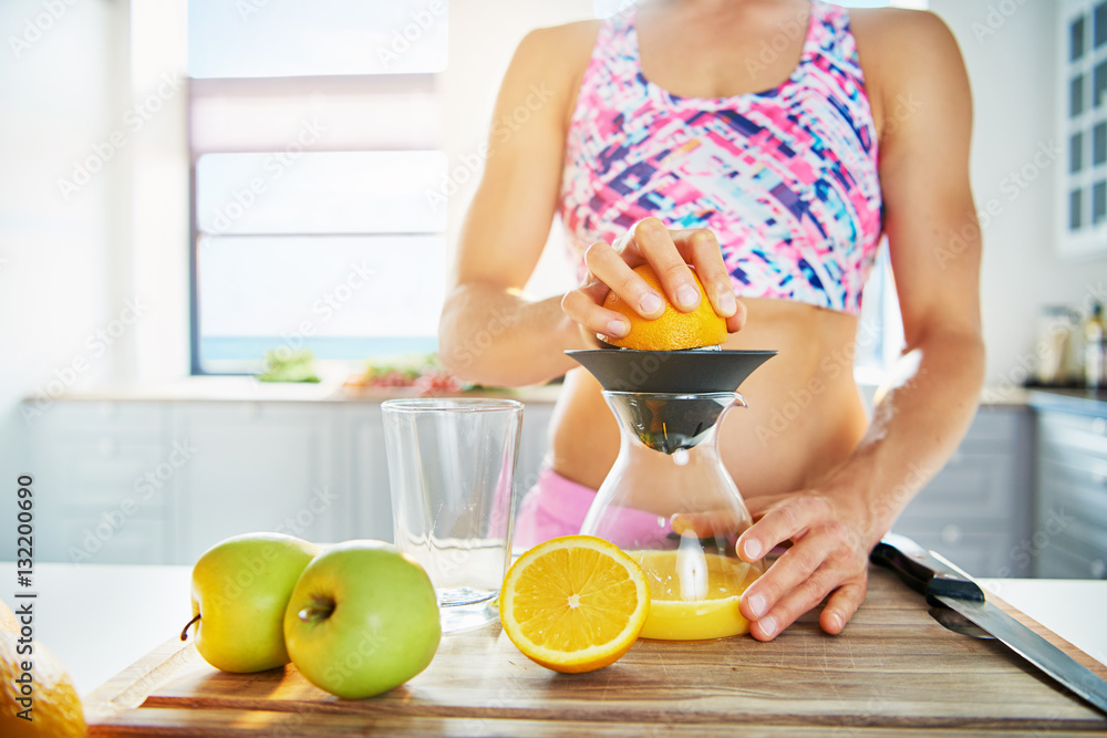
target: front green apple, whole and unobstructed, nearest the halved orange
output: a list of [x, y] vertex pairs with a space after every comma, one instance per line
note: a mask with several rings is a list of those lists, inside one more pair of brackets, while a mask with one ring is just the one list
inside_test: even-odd
[[284, 612], [292, 663], [348, 699], [397, 687], [427, 667], [442, 638], [438, 601], [417, 561], [381, 541], [346, 541], [303, 570]]

